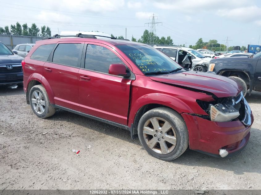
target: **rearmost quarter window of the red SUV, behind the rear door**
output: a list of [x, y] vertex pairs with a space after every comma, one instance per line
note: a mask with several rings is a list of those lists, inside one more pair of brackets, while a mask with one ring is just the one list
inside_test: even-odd
[[39, 46], [36, 51], [31, 55], [30, 59], [35, 59], [39, 61], [47, 61], [51, 51], [56, 44], [47, 44]]

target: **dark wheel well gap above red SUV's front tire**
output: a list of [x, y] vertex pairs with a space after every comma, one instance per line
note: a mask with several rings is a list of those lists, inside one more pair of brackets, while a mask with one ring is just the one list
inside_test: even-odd
[[[138, 112], [135, 115], [134, 122], [133, 122], [133, 131], [132, 131], [133, 135], [131, 135], [133, 138], [136, 138], [138, 135], [138, 123], [140, 121], [141, 116], [144, 115], [145, 112], [152, 110], [154, 108], [159, 108], [159, 107], [170, 108], [170, 107], [162, 105], [162, 104], [146, 104], [138, 110]], [[170, 109], [172, 109], [172, 108], [170, 108]]]

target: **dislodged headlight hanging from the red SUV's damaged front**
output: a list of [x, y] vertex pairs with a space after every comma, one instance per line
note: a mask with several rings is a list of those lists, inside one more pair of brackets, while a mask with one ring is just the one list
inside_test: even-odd
[[225, 108], [223, 104], [209, 104], [209, 116], [210, 120], [215, 122], [228, 122], [239, 116], [238, 110], [236, 110], [233, 106], [229, 108]]

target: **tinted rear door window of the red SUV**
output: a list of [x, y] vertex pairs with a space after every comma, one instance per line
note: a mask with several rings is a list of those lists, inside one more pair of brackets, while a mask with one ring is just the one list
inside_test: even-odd
[[53, 63], [77, 67], [81, 45], [81, 43], [60, 43], [53, 53]]

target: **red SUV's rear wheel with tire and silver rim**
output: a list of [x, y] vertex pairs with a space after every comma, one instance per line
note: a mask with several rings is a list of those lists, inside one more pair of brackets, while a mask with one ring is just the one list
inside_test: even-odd
[[29, 93], [29, 101], [33, 112], [39, 118], [53, 116], [55, 109], [50, 104], [47, 92], [43, 85], [35, 85]]

